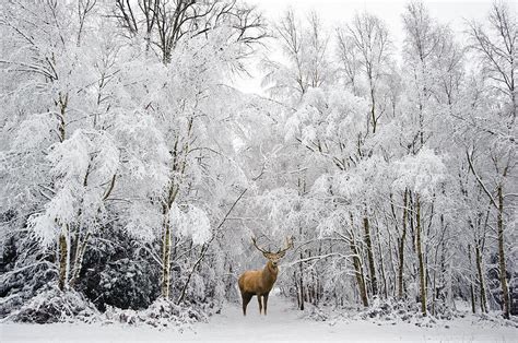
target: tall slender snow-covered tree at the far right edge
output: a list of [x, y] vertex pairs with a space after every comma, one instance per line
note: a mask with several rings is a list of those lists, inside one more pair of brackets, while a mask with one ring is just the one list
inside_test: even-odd
[[[504, 2], [495, 2], [488, 14], [488, 27], [470, 23], [471, 48], [480, 58], [482, 73], [491, 96], [488, 117], [474, 117], [479, 130], [466, 155], [470, 170], [496, 212], [498, 273], [504, 317], [509, 318], [510, 298], [507, 285], [505, 232], [514, 222], [516, 187], [510, 181], [516, 173], [516, 57], [518, 23], [515, 13]], [[508, 212], [510, 211], [510, 212]]]

